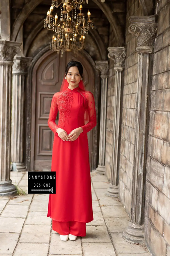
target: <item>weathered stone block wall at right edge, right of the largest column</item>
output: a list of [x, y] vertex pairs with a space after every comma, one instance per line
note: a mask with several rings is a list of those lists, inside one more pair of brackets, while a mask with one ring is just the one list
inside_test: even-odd
[[145, 240], [170, 255], [170, 1], [158, 5], [153, 55], [145, 199]]

